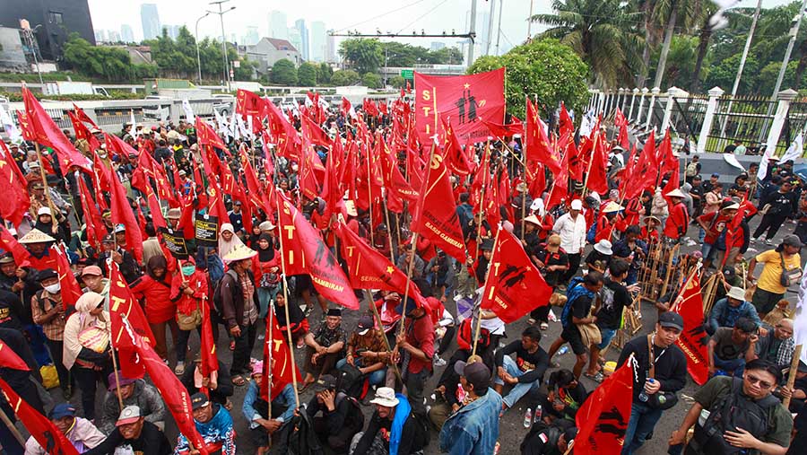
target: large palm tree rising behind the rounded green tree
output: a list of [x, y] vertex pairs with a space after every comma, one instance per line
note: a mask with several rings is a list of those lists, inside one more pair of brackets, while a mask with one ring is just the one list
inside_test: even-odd
[[620, 0], [553, 0], [553, 14], [535, 14], [533, 22], [551, 28], [539, 38], [555, 38], [573, 48], [603, 88], [629, 84], [641, 67], [645, 39], [638, 32], [641, 13]]

